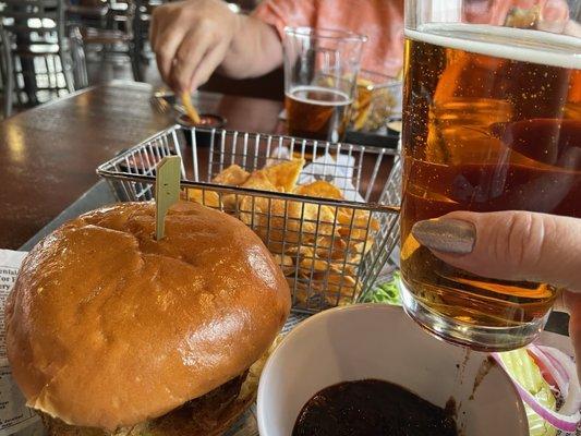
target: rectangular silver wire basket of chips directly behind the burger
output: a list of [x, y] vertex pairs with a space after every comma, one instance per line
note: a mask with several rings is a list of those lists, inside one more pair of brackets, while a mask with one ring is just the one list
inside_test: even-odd
[[[397, 242], [401, 165], [395, 150], [175, 125], [97, 172], [120, 201], [149, 201], [156, 166], [168, 155], [182, 157], [183, 197], [241, 219], [261, 237], [289, 281], [295, 312], [356, 302]], [[293, 192], [215, 180], [232, 165], [254, 177], [291, 159], [306, 161]], [[341, 195], [315, 190], [329, 184]]]

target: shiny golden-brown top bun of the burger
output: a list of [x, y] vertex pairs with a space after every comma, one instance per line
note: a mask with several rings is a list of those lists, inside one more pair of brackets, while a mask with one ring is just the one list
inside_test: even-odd
[[290, 307], [271, 255], [241, 221], [174, 205], [85, 214], [25, 258], [7, 306], [8, 356], [29, 407], [114, 429], [162, 415], [243, 373]]

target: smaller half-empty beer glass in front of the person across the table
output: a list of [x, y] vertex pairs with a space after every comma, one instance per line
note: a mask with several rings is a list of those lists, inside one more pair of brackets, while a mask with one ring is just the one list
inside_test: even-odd
[[334, 142], [342, 138], [365, 40], [365, 36], [343, 31], [285, 29], [289, 135]]

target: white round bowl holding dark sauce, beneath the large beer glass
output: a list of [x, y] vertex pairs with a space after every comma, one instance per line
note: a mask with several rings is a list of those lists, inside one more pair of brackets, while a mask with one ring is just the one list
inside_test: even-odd
[[[268, 360], [258, 387], [262, 436], [290, 436], [302, 407], [340, 382], [378, 378], [444, 407], [458, 407], [465, 436], [528, 436], [522, 402], [487, 355], [434, 339], [401, 308], [362, 304], [322, 312], [303, 322]], [[476, 378], [482, 378], [474, 389]], [[474, 392], [473, 399], [471, 399]]]

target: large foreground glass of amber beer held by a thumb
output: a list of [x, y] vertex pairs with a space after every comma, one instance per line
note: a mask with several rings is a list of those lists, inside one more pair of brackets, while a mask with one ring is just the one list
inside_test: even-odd
[[406, 11], [403, 305], [437, 337], [488, 351], [534, 340], [557, 289], [452, 268], [411, 229], [452, 210], [581, 218], [581, 0], [517, 3]]

